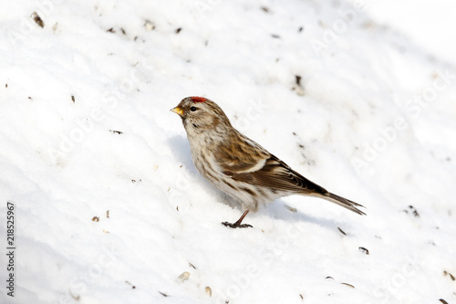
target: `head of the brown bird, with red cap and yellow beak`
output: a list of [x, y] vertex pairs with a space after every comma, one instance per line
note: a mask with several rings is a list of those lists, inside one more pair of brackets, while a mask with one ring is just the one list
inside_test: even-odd
[[184, 98], [171, 111], [181, 116], [183, 127], [189, 135], [231, 129], [230, 120], [223, 110], [212, 100], [203, 97]]

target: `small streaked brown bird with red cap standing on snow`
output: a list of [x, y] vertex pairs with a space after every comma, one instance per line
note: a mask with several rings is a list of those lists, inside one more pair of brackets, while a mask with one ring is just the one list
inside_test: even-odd
[[212, 100], [187, 97], [171, 111], [181, 116], [196, 169], [244, 209], [244, 214], [235, 223], [223, 222], [223, 225], [251, 227], [242, 224], [249, 211], [257, 211], [262, 204], [292, 194], [323, 198], [365, 215], [357, 208], [363, 205], [331, 194], [307, 180], [234, 129], [223, 110]]

